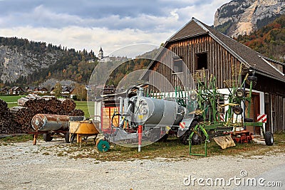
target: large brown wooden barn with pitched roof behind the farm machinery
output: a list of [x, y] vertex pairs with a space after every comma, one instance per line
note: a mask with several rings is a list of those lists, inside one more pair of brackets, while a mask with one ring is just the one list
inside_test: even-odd
[[[195, 18], [172, 35], [164, 48], [174, 52], [174, 56], [167, 57], [161, 51], [148, 66], [150, 71], [142, 76], [152, 87], [159, 86], [169, 92], [180, 85], [181, 77], [187, 75], [185, 70], [189, 70], [192, 75], [204, 73], [207, 78], [213, 75], [217, 78], [217, 88], [227, 89], [224, 81], [231, 80], [234, 70], [242, 68], [243, 77], [254, 72], [258, 78], [253, 88], [251, 118], [257, 121], [258, 114], [266, 114], [266, 131], [285, 130], [285, 63], [266, 58]], [[162, 64], [165, 60], [170, 64]], [[253, 132], [259, 134], [260, 130]]]

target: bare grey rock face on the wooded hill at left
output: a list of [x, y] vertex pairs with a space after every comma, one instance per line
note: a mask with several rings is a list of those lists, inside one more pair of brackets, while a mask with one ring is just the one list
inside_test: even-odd
[[19, 51], [18, 48], [0, 46], [0, 79], [6, 82], [14, 82], [21, 76], [40, 71], [54, 65], [62, 52], [34, 53], [28, 50]]

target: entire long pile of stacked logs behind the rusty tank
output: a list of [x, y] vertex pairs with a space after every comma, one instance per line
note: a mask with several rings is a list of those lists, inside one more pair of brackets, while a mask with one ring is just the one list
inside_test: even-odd
[[[0, 106], [0, 132], [15, 133], [31, 131], [31, 119], [34, 115], [53, 114], [83, 116], [82, 110], [76, 110], [76, 103], [73, 100], [58, 100], [56, 97], [44, 99], [42, 97], [24, 97], [19, 99], [19, 106], [7, 107], [6, 102], [1, 101]], [[2, 108], [2, 107], [5, 107]], [[3, 127], [2, 127], [3, 126]]]

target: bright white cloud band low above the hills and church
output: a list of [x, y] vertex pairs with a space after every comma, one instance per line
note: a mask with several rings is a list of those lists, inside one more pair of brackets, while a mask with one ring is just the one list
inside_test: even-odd
[[[132, 44], [150, 43], [160, 46], [175, 31], [148, 33], [141, 30], [125, 28], [123, 30], [109, 30], [108, 28], [82, 28], [71, 26], [65, 28], [33, 28], [16, 27], [0, 28], [1, 36], [21, 36], [33, 41], [45, 41], [56, 46], [67, 46], [77, 50], [91, 49], [98, 53], [102, 46], [105, 55], [116, 51], [118, 48]], [[124, 55], [122, 55], [124, 56]]]

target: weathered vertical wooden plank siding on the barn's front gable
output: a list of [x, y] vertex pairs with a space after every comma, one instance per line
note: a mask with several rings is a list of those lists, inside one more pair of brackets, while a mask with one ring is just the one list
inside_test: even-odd
[[[209, 35], [196, 36], [195, 38], [186, 38], [181, 41], [174, 41], [167, 43], [165, 48], [180, 56], [187, 65], [190, 73], [195, 73], [199, 70], [195, 68], [195, 54], [207, 53], [207, 69], [205, 70], [206, 78], [210, 75], [214, 75], [217, 78], [217, 88], [225, 88], [224, 80], [232, 78], [232, 66], [239, 68], [240, 61], [232, 56], [229, 51], [219, 45], [217, 41], [214, 41]], [[155, 76], [154, 71], [150, 71], [149, 81], [155, 86], [160, 87], [162, 90], [169, 91], [177, 85], [181, 85], [180, 78], [187, 78], [188, 76], [183, 73], [173, 74], [173, 61], [170, 53], [164, 53], [160, 62], [167, 62], [167, 65], [155, 62], [150, 67], [150, 70], [154, 70], [160, 73], [160, 76]], [[185, 70], [185, 68], [183, 68]], [[163, 78], [167, 78], [170, 81], [169, 84], [165, 82]], [[172, 85], [172, 86], [171, 86]], [[152, 90], [155, 90], [154, 88]]]

